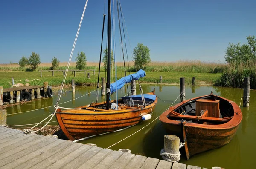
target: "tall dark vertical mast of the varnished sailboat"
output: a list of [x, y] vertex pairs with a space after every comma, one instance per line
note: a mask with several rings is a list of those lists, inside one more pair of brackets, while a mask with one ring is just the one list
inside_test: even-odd
[[111, 57], [111, 0], [108, 0], [108, 59], [107, 59], [107, 93], [106, 109], [109, 110], [110, 102], [110, 57]]

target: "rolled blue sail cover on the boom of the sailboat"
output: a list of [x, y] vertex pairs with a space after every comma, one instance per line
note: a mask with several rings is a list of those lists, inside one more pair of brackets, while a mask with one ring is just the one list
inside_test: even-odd
[[110, 85], [110, 93], [112, 94], [113, 92], [116, 92], [116, 89], [121, 89], [122, 86], [125, 86], [126, 83], [130, 83], [131, 80], [138, 80], [140, 77], [144, 77], [145, 75], [146, 72], [140, 69], [137, 73], [122, 77], [121, 79]]

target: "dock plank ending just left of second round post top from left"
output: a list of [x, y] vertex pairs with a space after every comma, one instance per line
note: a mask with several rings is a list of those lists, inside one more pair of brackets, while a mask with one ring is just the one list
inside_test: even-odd
[[83, 145], [76, 149], [76, 151], [71, 152], [69, 155], [65, 156], [62, 159], [59, 159], [56, 163], [51, 166], [48, 166], [47, 169], [60, 169], [70, 163], [70, 161], [74, 160], [75, 158], [79, 157], [81, 154], [86, 152], [88, 149], [91, 149], [92, 146]]

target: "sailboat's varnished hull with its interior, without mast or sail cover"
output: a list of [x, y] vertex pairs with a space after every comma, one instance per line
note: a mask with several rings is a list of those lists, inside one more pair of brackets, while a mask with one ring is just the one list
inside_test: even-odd
[[[151, 114], [157, 97], [153, 92], [144, 94], [146, 106], [143, 106], [140, 95], [132, 96], [134, 106], [127, 106], [130, 97], [118, 100], [118, 110], [106, 110], [106, 102], [92, 103], [78, 107], [78, 110], [57, 111], [56, 118], [61, 130], [69, 140], [78, 140], [91, 135], [113, 132], [141, 121], [141, 117]], [[116, 102], [116, 100], [111, 101]]]

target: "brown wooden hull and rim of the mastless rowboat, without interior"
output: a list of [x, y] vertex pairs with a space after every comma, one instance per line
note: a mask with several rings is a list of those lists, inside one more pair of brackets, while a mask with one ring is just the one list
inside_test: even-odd
[[[204, 96], [205, 97], [205, 96]], [[192, 98], [198, 99], [200, 97]], [[221, 99], [227, 100], [223, 97]], [[185, 152], [187, 160], [190, 156], [224, 146], [236, 134], [239, 123], [242, 120], [242, 113], [239, 106], [231, 100], [227, 103], [233, 107], [233, 118], [227, 123], [212, 125], [212, 124], [198, 124], [187, 123], [168, 119], [170, 111], [177, 109], [182, 104], [186, 104], [189, 100], [185, 100], [164, 112], [160, 116], [160, 121], [163, 123], [166, 131], [169, 134], [177, 135], [181, 141], [185, 141]]]

